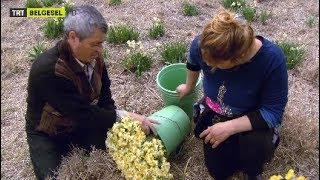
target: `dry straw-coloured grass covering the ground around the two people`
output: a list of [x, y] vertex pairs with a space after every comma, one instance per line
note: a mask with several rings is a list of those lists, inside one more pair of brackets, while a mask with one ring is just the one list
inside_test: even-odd
[[[23, 0], [1, 2], [1, 179], [34, 179], [24, 130], [26, 87], [31, 65], [27, 56], [36, 42], [44, 41], [50, 47], [56, 40], [44, 38], [39, 26], [44, 24], [43, 19], [9, 18], [9, 8], [23, 7]], [[199, 7], [199, 16], [183, 16], [182, 2], [178, 0], [125, 0], [112, 7], [104, 0], [86, 1], [96, 6], [108, 22], [126, 22], [137, 27], [140, 40], [147, 49], [152, 49], [156, 42], [183, 41], [190, 44], [193, 36], [201, 32], [204, 23], [220, 7], [218, 1], [193, 2]], [[253, 1], [248, 2], [254, 5]], [[75, 4], [83, 3], [75, 1]], [[305, 61], [289, 71], [289, 102], [281, 143], [275, 158], [265, 168], [264, 178], [294, 168], [309, 179], [319, 179], [319, 29], [309, 28], [304, 23], [310, 15], [319, 17], [318, 8], [317, 1], [266, 0], [256, 4], [258, 12], [265, 9], [273, 14], [265, 26], [253, 22], [257, 34], [274, 40], [295, 41], [307, 47]], [[153, 17], [165, 23], [166, 34], [159, 40], [148, 37]], [[163, 107], [155, 83], [156, 74], [163, 66], [159, 54], [154, 56], [156, 62], [152, 69], [137, 78], [125, 72], [120, 64], [125, 46], [105, 46], [110, 54], [109, 74], [116, 105], [145, 115]], [[175, 179], [210, 179], [204, 166], [201, 141], [191, 134], [183, 147], [181, 156], [170, 160]], [[79, 177], [82, 173], [83, 177], [94, 175], [99, 179], [118, 179], [119, 172], [114, 167], [106, 152], [95, 150], [84, 158], [81, 150], [75, 150], [63, 161], [59, 176], [64, 179], [68, 175]], [[234, 178], [237, 177], [239, 175]]]

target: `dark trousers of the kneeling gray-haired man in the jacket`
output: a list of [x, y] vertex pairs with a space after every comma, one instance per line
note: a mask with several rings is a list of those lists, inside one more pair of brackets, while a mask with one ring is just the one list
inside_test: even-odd
[[62, 156], [68, 155], [74, 146], [83, 148], [87, 152], [91, 150], [91, 146], [105, 150], [106, 134], [106, 130], [83, 128], [71, 134], [50, 137], [45, 133], [27, 130], [30, 158], [37, 179], [53, 177], [53, 171], [57, 170]]

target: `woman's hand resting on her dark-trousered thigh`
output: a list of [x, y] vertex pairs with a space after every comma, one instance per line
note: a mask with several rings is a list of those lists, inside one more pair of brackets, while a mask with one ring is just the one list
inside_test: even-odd
[[216, 148], [229, 136], [233, 135], [233, 131], [231, 130], [229, 123], [230, 121], [219, 122], [217, 124], [209, 126], [200, 134], [200, 138], [204, 138], [204, 142], [206, 144], [210, 142], [212, 144], [212, 148]]

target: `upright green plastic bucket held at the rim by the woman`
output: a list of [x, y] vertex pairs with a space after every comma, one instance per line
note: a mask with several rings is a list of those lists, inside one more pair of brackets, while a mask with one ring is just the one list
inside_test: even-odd
[[185, 63], [176, 63], [165, 66], [157, 74], [157, 87], [161, 93], [165, 106], [176, 105], [182, 108], [190, 119], [192, 119], [193, 104], [197, 101], [199, 92], [201, 77], [197, 81], [195, 89], [189, 95], [179, 99], [179, 94], [176, 88], [180, 84], [186, 83], [187, 79], [187, 67]]

